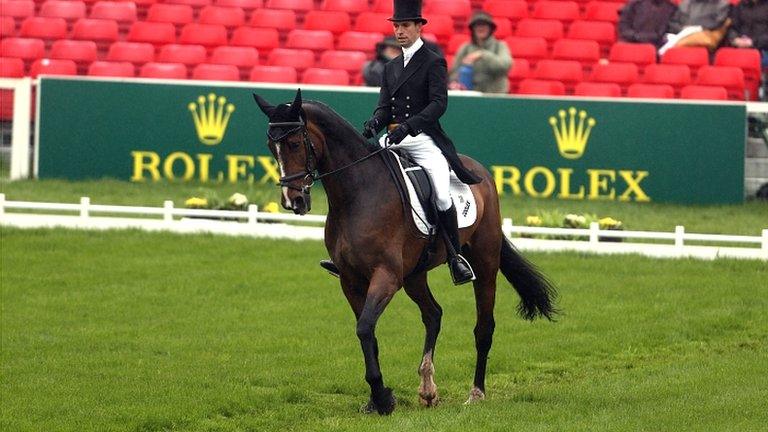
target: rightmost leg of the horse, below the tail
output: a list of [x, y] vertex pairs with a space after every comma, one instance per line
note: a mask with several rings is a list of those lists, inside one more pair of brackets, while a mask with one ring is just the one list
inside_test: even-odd
[[[496, 229], [498, 230], [498, 228]], [[485, 399], [485, 368], [488, 362], [488, 352], [493, 343], [493, 330], [496, 326], [493, 319], [493, 308], [496, 303], [496, 274], [499, 270], [499, 251], [501, 249], [499, 245], [500, 234], [493, 235], [491, 230], [484, 231], [475, 233], [472, 249], [469, 250], [467, 257], [477, 277], [473, 282], [477, 309], [477, 323], [474, 330], [477, 362], [475, 364], [475, 378], [467, 403]]]

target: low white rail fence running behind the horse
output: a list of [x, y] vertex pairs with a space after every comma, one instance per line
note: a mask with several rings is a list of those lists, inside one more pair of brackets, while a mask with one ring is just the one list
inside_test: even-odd
[[[31, 210], [33, 213], [20, 212], [24, 210]], [[202, 210], [176, 208], [172, 201], [165, 201], [163, 207], [134, 207], [91, 204], [90, 198], [87, 197], [81, 198], [77, 204], [6, 201], [5, 195], [0, 194], [0, 225], [21, 228], [142, 229], [321, 240], [324, 223], [325, 216], [266, 213], [260, 212], [255, 205], [248, 206], [245, 211]], [[504, 219], [501, 228], [522, 250], [768, 261], [768, 229], [763, 229], [760, 236], [687, 233], [682, 226], [677, 226], [674, 232], [613, 231], [601, 230], [597, 223], [592, 223], [588, 229], [515, 226], [511, 219]], [[577, 237], [584, 240], [531, 237], [536, 235]], [[605, 239], [614, 241], [604, 241]], [[631, 243], [627, 241], [629, 239], [644, 242]]]

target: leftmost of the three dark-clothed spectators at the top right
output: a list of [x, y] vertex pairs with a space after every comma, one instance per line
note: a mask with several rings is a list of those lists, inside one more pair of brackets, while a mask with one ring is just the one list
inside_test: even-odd
[[626, 42], [651, 43], [658, 48], [676, 10], [669, 0], [630, 0], [619, 12], [619, 36]]

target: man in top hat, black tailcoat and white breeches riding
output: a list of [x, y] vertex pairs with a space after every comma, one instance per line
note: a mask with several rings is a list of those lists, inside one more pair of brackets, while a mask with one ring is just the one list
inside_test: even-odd
[[[434, 186], [438, 219], [447, 234], [451, 277], [454, 284], [464, 284], [474, 280], [475, 274], [460, 255], [456, 206], [449, 193], [450, 169], [467, 184], [482, 179], [461, 163], [440, 126], [439, 119], [448, 106], [447, 66], [445, 59], [429, 50], [421, 39], [422, 27], [427, 23], [421, 16], [421, 0], [394, 0], [394, 14], [389, 21], [403, 54], [384, 66], [379, 103], [373, 117], [363, 125], [363, 136], [373, 138], [386, 127], [388, 133], [379, 144], [408, 153], [427, 171]], [[338, 274], [329, 260], [322, 261], [321, 266]]]

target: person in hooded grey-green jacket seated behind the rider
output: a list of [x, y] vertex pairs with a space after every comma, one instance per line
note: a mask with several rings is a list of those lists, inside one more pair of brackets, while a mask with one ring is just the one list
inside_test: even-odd
[[472, 39], [459, 48], [451, 68], [449, 88], [507, 93], [507, 73], [512, 56], [507, 44], [493, 37], [496, 24], [485, 12], [476, 12], [469, 21]]

